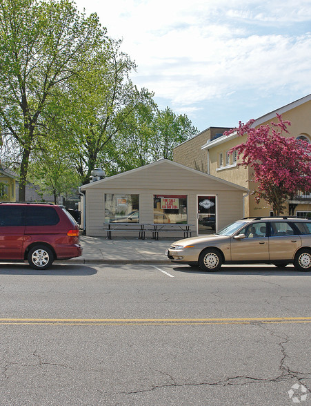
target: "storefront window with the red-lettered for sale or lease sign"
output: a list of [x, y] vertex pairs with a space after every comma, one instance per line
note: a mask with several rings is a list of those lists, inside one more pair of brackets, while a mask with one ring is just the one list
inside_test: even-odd
[[187, 223], [187, 195], [154, 195], [154, 223]]

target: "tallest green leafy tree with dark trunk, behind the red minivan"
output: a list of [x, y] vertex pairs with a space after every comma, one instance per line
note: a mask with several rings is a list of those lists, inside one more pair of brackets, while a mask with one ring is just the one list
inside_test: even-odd
[[90, 68], [105, 35], [68, 0], [0, 0], [0, 121], [20, 148], [19, 200], [54, 90]]

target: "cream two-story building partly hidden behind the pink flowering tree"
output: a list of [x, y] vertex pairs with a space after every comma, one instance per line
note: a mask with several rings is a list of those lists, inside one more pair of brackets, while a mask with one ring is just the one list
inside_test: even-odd
[[[253, 126], [258, 127], [271, 122], [277, 122], [277, 114], [282, 115], [283, 120], [291, 122], [288, 127], [289, 133], [284, 136], [303, 138], [311, 142], [311, 95], [303, 97], [297, 101], [274, 110], [255, 120]], [[204, 133], [204, 132], [203, 132]], [[250, 172], [248, 168], [237, 167], [236, 155], [229, 155], [228, 151], [232, 146], [245, 142], [245, 137], [237, 137], [237, 134], [229, 136], [221, 135], [218, 137], [207, 138], [201, 145], [201, 151], [198, 151], [196, 165], [206, 168], [206, 173], [217, 176], [222, 180], [239, 184], [249, 190], [249, 194], [244, 197], [244, 215], [270, 215], [271, 208], [265, 202], [257, 204], [254, 196], [251, 194], [254, 190], [254, 184], [248, 182]], [[193, 144], [197, 140], [190, 139], [187, 142], [174, 148], [174, 161], [186, 166], [193, 166]], [[181, 155], [182, 151], [182, 155]], [[189, 153], [187, 153], [189, 151]], [[205, 155], [202, 155], [205, 152]], [[199, 159], [198, 159], [199, 158]], [[201, 162], [201, 161], [202, 162]], [[293, 200], [288, 201], [287, 215], [301, 215], [311, 213], [311, 194], [310, 191], [299, 191]]]

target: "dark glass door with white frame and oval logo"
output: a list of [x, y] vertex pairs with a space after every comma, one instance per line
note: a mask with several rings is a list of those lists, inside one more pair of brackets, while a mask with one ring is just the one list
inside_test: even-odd
[[216, 231], [216, 196], [198, 196], [198, 234], [213, 234]]

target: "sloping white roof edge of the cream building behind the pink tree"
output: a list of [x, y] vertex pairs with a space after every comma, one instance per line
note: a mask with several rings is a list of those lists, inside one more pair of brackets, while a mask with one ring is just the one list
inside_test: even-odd
[[[289, 110], [292, 110], [292, 108], [301, 106], [301, 104], [306, 103], [307, 101], [311, 100], [311, 94], [305, 97], [301, 97], [301, 99], [292, 101], [290, 104], [286, 104], [283, 107], [277, 108], [277, 110], [270, 111], [270, 113], [267, 113], [265, 115], [262, 115], [261, 117], [257, 118], [254, 123], [252, 124], [252, 127], [257, 127], [263, 124], [264, 122], [267, 122], [270, 119], [274, 119], [277, 114], [282, 115], [283, 113], [286, 113]], [[206, 144], [201, 146], [201, 149], [210, 149], [215, 145], [220, 145], [223, 144], [223, 142], [227, 142], [230, 139], [234, 139], [237, 137], [237, 133], [233, 133], [230, 135], [223, 135], [222, 137], [219, 137], [217, 139], [214, 139], [213, 141], [208, 141]]]

